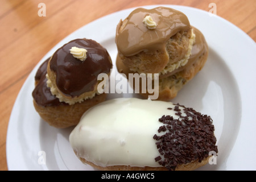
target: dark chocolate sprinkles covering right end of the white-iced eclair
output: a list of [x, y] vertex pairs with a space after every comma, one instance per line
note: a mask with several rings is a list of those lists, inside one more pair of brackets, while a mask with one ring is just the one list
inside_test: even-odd
[[[181, 109], [185, 114], [182, 115]], [[177, 164], [195, 160], [201, 162], [209, 156], [210, 151], [218, 152], [210, 116], [179, 104], [175, 105], [174, 111], [179, 119], [170, 115], [159, 118], [159, 122], [164, 125], [158, 129], [158, 133], [162, 135], [155, 134], [153, 137], [160, 154], [155, 158], [156, 162], [174, 171]]]

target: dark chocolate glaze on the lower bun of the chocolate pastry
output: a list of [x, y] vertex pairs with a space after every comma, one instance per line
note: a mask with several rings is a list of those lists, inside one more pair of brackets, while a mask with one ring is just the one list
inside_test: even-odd
[[68, 105], [65, 102], [60, 102], [58, 98], [52, 95], [51, 90], [47, 87], [46, 73], [49, 59], [50, 57], [40, 65], [36, 72], [35, 81], [38, 82], [38, 84], [36, 84], [35, 89], [32, 92], [34, 101], [40, 106]]

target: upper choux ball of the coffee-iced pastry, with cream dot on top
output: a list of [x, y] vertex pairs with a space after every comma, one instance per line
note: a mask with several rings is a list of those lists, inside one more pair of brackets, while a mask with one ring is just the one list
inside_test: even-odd
[[187, 64], [195, 34], [180, 11], [139, 8], [119, 22], [115, 42], [118, 56], [131, 71], [164, 75]]

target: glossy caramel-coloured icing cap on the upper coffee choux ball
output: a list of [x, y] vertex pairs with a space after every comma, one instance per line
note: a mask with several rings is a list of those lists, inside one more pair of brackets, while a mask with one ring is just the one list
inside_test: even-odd
[[[157, 24], [154, 30], [149, 30], [143, 23], [148, 15]], [[115, 43], [124, 56], [133, 56], [141, 51], [165, 52], [166, 42], [171, 36], [190, 28], [187, 16], [180, 11], [168, 7], [139, 8], [119, 22]]]

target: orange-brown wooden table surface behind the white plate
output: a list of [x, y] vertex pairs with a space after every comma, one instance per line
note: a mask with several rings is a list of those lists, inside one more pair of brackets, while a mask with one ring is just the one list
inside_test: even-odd
[[[39, 16], [46, 5], [46, 16]], [[115, 11], [143, 5], [184, 5], [209, 11], [256, 41], [255, 0], [1, 0], [0, 1], [0, 169], [6, 163], [6, 134], [19, 90], [44, 55], [73, 31]]]

